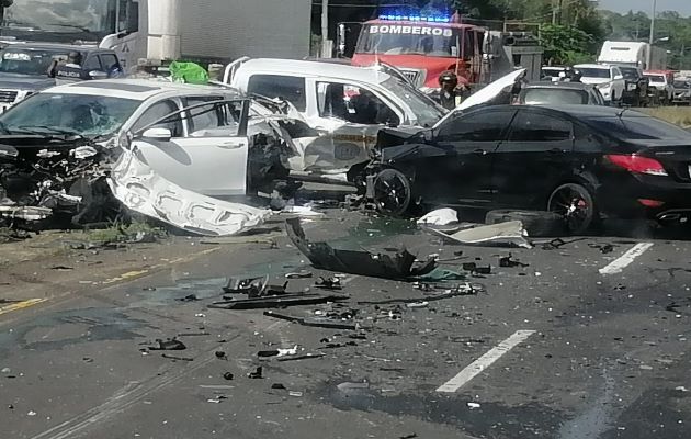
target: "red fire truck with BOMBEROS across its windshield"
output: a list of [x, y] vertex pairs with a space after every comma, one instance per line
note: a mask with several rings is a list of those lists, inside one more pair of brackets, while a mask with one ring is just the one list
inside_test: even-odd
[[386, 14], [363, 24], [352, 57], [355, 66], [386, 63], [422, 89], [439, 88], [439, 76], [452, 70], [463, 83], [483, 77], [486, 29], [461, 23], [460, 15]]

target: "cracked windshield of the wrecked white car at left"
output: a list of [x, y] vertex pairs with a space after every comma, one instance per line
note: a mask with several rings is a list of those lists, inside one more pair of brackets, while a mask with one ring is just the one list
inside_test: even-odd
[[139, 104], [121, 98], [38, 93], [0, 115], [0, 125], [10, 134], [105, 136], [117, 132]]

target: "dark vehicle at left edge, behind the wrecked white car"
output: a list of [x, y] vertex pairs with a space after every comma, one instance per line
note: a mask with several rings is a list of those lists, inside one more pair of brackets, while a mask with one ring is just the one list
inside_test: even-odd
[[53, 87], [48, 75], [55, 60], [65, 60], [69, 53], [81, 56], [81, 65], [61, 69], [66, 80], [103, 79], [122, 72], [115, 52], [66, 44], [11, 44], [0, 50], [0, 112], [38, 90]]

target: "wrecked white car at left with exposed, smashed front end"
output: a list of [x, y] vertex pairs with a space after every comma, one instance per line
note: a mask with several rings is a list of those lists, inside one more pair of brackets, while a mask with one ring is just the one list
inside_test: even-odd
[[39, 207], [84, 224], [132, 210], [202, 235], [256, 226], [269, 211], [219, 199], [287, 177], [293, 136], [316, 136], [290, 106], [261, 102], [147, 80], [37, 93], [0, 116], [0, 216], [35, 219], [22, 212]]

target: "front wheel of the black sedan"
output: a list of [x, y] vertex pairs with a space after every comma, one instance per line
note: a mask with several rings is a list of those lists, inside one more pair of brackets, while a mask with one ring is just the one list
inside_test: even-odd
[[378, 212], [401, 216], [410, 207], [410, 180], [397, 169], [382, 169], [374, 178], [374, 203]]

